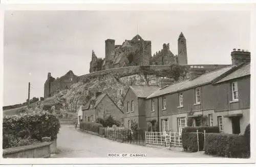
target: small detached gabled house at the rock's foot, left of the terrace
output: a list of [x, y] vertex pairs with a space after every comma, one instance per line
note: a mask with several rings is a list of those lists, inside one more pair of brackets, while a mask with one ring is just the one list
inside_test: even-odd
[[97, 118], [107, 118], [112, 115], [122, 122], [123, 112], [107, 93], [96, 92], [94, 97], [82, 107], [83, 122], [95, 122]]

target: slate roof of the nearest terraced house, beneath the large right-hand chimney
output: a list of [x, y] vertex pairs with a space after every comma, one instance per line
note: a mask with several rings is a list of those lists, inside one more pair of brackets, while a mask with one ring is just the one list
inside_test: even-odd
[[215, 83], [221, 83], [221, 82], [225, 82], [225, 81], [229, 81], [232, 79], [245, 77], [245, 76], [249, 76], [249, 75], [250, 75], [250, 63], [241, 66], [237, 70], [234, 70], [232, 73], [230, 73], [229, 75], [225, 76], [224, 78], [220, 79], [219, 81], [217, 81]]

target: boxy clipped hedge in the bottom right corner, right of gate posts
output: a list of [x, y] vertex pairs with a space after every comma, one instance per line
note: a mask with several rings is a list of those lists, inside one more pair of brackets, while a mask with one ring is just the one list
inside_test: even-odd
[[247, 140], [244, 135], [205, 134], [205, 154], [229, 158], [248, 158]]

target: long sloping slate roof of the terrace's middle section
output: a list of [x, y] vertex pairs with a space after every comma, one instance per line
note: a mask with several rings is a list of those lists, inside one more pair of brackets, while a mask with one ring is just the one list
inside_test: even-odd
[[185, 90], [185, 89], [188, 89], [191, 87], [200, 86], [200, 85], [210, 83], [217, 77], [220, 77], [221, 75], [225, 74], [228, 70], [230, 70], [233, 67], [234, 66], [224, 67], [224, 68], [221, 68], [221, 69], [218, 69], [215, 71], [211, 71], [210, 73], [203, 74], [203, 75], [195, 78], [194, 80], [185, 80], [185, 81], [173, 84], [173, 85], [168, 85], [162, 89], [155, 91], [150, 96], [148, 96], [147, 99], [155, 98], [158, 96], [162, 96], [163, 94], [174, 93], [174, 92]]

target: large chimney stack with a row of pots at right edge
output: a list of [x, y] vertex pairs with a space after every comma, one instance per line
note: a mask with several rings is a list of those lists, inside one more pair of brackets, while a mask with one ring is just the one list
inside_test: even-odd
[[243, 62], [250, 62], [251, 61], [251, 53], [248, 50], [236, 50], [233, 49], [233, 52], [231, 52], [231, 59], [232, 59], [232, 65], [239, 65]]

